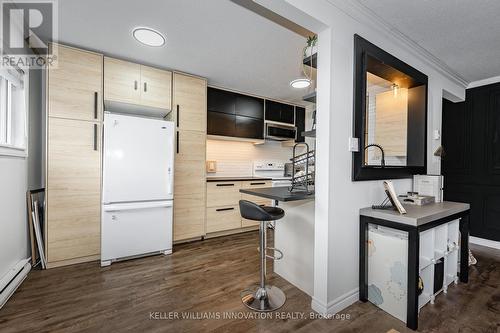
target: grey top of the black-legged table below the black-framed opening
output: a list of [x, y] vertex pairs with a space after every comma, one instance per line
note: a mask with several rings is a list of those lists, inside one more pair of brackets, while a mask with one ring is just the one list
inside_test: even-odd
[[406, 209], [406, 214], [399, 214], [397, 210], [373, 209], [371, 207], [360, 209], [359, 214], [418, 227], [470, 209], [469, 204], [451, 201], [432, 203], [423, 206], [403, 205], [403, 207]]

